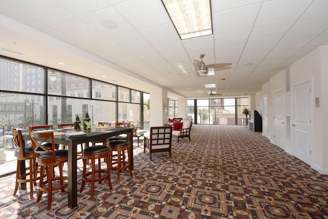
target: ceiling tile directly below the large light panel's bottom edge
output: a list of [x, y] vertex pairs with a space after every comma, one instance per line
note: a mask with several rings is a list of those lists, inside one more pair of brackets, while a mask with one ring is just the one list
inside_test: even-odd
[[196, 38], [183, 39], [181, 41], [187, 52], [198, 52], [214, 49], [213, 35], [199, 36]]

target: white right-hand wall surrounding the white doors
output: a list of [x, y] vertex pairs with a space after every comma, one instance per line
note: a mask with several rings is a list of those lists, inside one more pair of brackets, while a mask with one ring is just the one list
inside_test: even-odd
[[[328, 174], [328, 135], [326, 134], [327, 125], [326, 110], [328, 109], [328, 46], [321, 46], [304, 56], [297, 62], [290, 65], [290, 83], [299, 84], [306, 80], [312, 81], [313, 99], [320, 98], [320, 107], [316, 108], [313, 104], [312, 108], [312, 164], [311, 167]], [[273, 92], [283, 89], [285, 90], [285, 70], [282, 70], [272, 78], [268, 83], [262, 85], [261, 95], [268, 95], [269, 99], [269, 139], [274, 136], [274, 119], [273, 119]], [[324, 84], [322, 84], [324, 83]], [[256, 94], [256, 105], [262, 103], [260, 93]], [[291, 104], [291, 92], [285, 91], [285, 115], [293, 116]], [[260, 102], [260, 103], [258, 103]], [[272, 141], [274, 142], [274, 141]], [[291, 141], [285, 139], [284, 146], [286, 150], [292, 150]]]

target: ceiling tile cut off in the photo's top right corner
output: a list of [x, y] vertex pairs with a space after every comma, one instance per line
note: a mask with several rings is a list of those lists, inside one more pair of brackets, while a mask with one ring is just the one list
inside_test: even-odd
[[326, 17], [326, 16], [328, 16], [328, 1], [316, 0], [302, 14], [300, 19], [309, 19], [309, 18]]

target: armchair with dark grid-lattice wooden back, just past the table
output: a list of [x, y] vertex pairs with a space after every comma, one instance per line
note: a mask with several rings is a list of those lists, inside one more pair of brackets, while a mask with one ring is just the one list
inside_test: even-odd
[[149, 136], [144, 136], [144, 154], [146, 149], [149, 151], [149, 160], [152, 161], [152, 154], [157, 152], [169, 152], [170, 158], [172, 144], [172, 127], [158, 126], [150, 127]]

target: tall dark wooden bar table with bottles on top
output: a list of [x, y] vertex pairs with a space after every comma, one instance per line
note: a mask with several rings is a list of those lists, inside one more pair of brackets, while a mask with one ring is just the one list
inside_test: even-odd
[[[72, 132], [72, 130], [57, 129], [54, 132]], [[133, 169], [133, 128], [117, 127], [117, 128], [96, 128], [92, 127], [91, 132], [87, 132], [87, 136], [67, 138], [65, 135], [54, 137], [55, 144], [68, 145], [68, 207], [73, 209], [77, 206], [77, 145], [106, 139], [112, 136], [127, 134], [130, 142], [131, 169]], [[28, 133], [23, 133], [25, 141], [30, 140]], [[23, 162], [22, 162], [23, 163]], [[24, 163], [25, 164], [25, 163]], [[23, 164], [22, 164], [23, 165]], [[24, 165], [25, 170], [25, 165]], [[22, 185], [24, 188], [24, 185]]]

